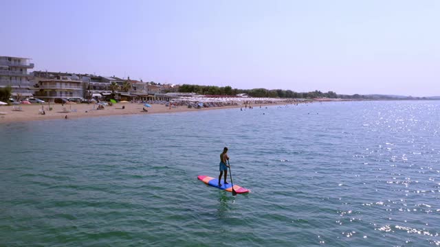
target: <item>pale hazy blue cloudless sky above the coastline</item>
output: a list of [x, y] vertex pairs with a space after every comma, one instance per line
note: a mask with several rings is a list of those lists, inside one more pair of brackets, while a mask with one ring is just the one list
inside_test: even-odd
[[0, 0], [36, 70], [239, 89], [440, 95], [440, 1]]

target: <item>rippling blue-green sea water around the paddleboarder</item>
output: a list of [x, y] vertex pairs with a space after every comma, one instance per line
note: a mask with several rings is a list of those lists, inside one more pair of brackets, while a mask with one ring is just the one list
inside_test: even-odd
[[[225, 145], [252, 193], [197, 180]], [[0, 147], [0, 246], [440, 245], [440, 102], [0, 124]]]

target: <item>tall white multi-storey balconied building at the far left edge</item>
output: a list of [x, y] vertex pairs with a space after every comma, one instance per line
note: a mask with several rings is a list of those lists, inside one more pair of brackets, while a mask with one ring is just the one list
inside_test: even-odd
[[0, 56], [0, 87], [10, 86], [13, 97], [30, 97], [32, 89], [32, 74], [28, 69], [33, 69], [34, 64], [30, 58]]

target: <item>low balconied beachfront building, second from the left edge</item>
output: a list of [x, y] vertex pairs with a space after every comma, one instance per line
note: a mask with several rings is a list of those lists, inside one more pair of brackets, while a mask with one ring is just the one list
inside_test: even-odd
[[85, 94], [82, 76], [73, 73], [34, 71], [34, 95], [46, 102], [54, 102], [56, 98], [82, 98]]

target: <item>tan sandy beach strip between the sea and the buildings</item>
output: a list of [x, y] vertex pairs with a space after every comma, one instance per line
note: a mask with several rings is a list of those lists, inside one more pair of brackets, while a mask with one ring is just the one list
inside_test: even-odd
[[[256, 104], [254, 108], [259, 106], [270, 105], [284, 105], [292, 104], [287, 102], [277, 102], [273, 104]], [[45, 110], [45, 115], [39, 114], [41, 107]], [[122, 108], [124, 106], [124, 108]], [[78, 117], [102, 117], [110, 115], [133, 115], [133, 114], [156, 114], [156, 113], [181, 113], [181, 112], [194, 112], [199, 110], [219, 110], [226, 108], [245, 108], [244, 105], [238, 106], [219, 106], [209, 108], [188, 108], [188, 106], [175, 106], [169, 108], [164, 104], [151, 104], [151, 107], [145, 107], [144, 104], [137, 103], [117, 103], [113, 106], [105, 106], [104, 110], [97, 110], [98, 104], [50, 104], [52, 110], [48, 110], [47, 104], [32, 104], [25, 105], [20, 104], [15, 108], [21, 107], [21, 110], [14, 110], [14, 106], [0, 106], [0, 124], [12, 123], [19, 121], [36, 121], [36, 120], [48, 120], [48, 119], [74, 119]], [[148, 110], [144, 112], [142, 108]]]

